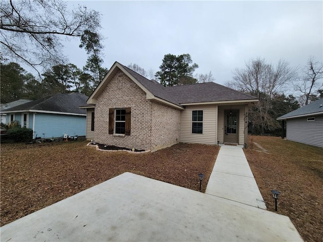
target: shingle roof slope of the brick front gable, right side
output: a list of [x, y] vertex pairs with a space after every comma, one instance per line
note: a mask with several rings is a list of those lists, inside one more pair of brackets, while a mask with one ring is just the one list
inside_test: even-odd
[[[120, 64], [120, 63], [119, 63]], [[140, 74], [134, 72], [133, 70], [129, 69], [128, 67], [120, 64], [123, 68], [125, 68], [130, 75], [132, 75], [138, 82], [141, 83], [145, 88], [147, 88], [154, 96], [179, 105], [177, 99], [175, 99], [172, 95], [169, 94], [167, 88], [160, 83], [156, 82], [155, 80], [148, 80], [147, 78], [141, 76]]]

